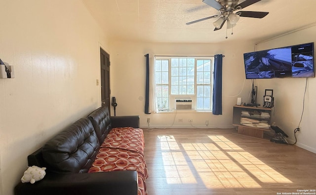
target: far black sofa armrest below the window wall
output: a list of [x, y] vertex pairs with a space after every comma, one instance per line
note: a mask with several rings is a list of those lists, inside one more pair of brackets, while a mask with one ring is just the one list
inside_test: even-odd
[[115, 127], [134, 127], [139, 128], [139, 116], [118, 116], [110, 117], [112, 128]]

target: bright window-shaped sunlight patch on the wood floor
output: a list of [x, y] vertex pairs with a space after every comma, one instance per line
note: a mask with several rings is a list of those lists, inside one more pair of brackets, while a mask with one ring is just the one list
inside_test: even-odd
[[224, 136], [208, 137], [213, 143], [179, 146], [172, 135], [158, 136], [167, 184], [261, 188], [260, 183], [292, 183]]

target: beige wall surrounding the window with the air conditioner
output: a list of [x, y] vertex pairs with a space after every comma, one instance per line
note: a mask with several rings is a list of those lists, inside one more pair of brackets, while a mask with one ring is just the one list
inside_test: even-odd
[[[117, 115], [139, 115], [141, 126], [148, 127], [147, 117], [151, 118], [150, 127], [192, 127], [192, 124], [206, 128], [231, 128], [233, 106], [237, 97], [249, 102], [250, 80], [245, 80], [243, 51], [253, 49], [252, 44], [231, 42], [222, 44], [175, 44], [147, 42], [111, 42], [111, 83], [112, 96], [117, 98]], [[144, 114], [146, 60], [144, 54], [156, 55], [215, 55], [224, 54], [223, 58], [223, 115], [212, 113], [181, 112]], [[245, 82], [245, 83], [244, 83]], [[244, 83], [244, 87], [243, 87]], [[239, 94], [240, 93], [240, 94]], [[183, 122], [178, 122], [178, 119]]]

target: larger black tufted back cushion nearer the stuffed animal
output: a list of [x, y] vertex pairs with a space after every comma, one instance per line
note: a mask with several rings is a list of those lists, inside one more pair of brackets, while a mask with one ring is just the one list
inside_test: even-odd
[[81, 118], [42, 147], [47, 171], [85, 173], [99, 149], [99, 140], [88, 118]]

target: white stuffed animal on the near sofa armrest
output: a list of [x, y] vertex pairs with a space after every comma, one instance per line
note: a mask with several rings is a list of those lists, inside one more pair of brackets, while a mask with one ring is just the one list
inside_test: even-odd
[[22, 183], [30, 182], [34, 184], [37, 181], [40, 181], [46, 175], [45, 172], [46, 167], [38, 167], [38, 166], [29, 166], [29, 168], [24, 171], [24, 175], [21, 178]]

